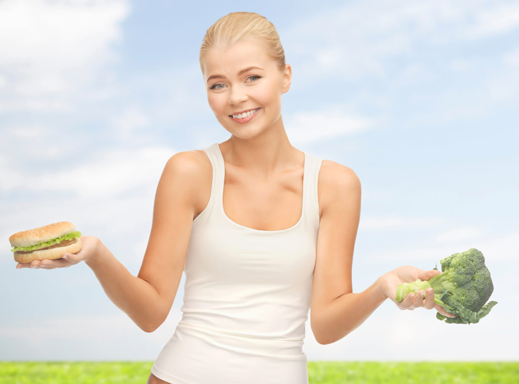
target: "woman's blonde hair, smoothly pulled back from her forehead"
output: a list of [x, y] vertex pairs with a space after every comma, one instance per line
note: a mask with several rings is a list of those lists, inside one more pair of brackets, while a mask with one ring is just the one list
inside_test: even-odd
[[203, 37], [199, 58], [202, 71], [202, 58], [207, 50], [228, 47], [246, 38], [261, 39], [272, 59], [278, 62], [280, 70], [284, 69], [285, 52], [274, 24], [257, 13], [232, 12], [211, 25]]

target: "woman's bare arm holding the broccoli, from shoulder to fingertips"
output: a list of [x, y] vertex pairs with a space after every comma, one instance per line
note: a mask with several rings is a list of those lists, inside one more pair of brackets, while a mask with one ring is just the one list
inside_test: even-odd
[[[349, 168], [323, 161], [319, 175], [322, 215], [317, 240], [316, 267], [312, 281], [310, 324], [320, 344], [335, 342], [361, 325], [387, 298], [394, 301], [398, 284], [439, 273], [411, 266], [394, 269], [360, 293], [352, 292], [353, 249], [360, 220], [361, 185]], [[427, 297], [408, 295], [401, 309], [442, 307], [434, 305], [432, 289]]]

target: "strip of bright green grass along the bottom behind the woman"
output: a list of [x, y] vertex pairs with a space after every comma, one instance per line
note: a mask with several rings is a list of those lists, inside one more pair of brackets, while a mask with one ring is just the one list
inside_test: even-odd
[[[152, 364], [0, 362], [0, 384], [145, 384]], [[308, 378], [310, 384], [517, 384], [519, 362], [308, 362]]]

